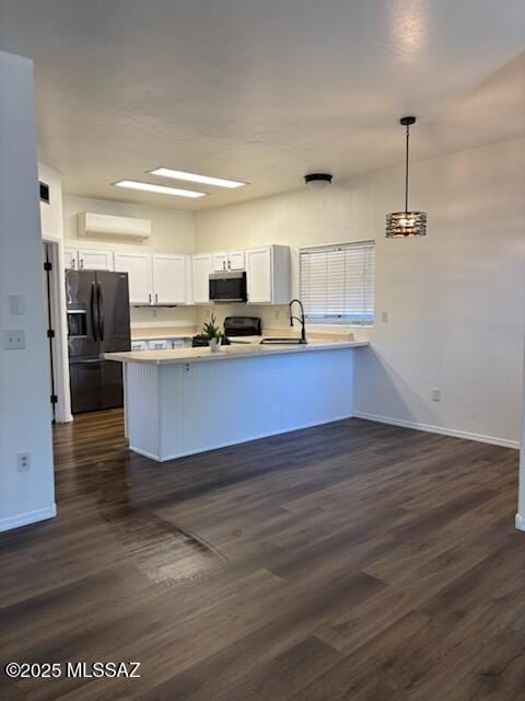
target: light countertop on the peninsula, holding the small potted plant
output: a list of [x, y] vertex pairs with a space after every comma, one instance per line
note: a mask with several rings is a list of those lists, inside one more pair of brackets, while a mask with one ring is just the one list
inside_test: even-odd
[[[173, 336], [172, 336], [173, 337]], [[144, 363], [165, 365], [176, 363], [208, 363], [232, 360], [243, 357], [261, 357], [262, 355], [282, 355], [292, 353], [313, 353], [318, 350], [337, 350], [343, 348], [361, 348], [368, 346], [366, 341], [311, 341], [307, 345], [245, 343], [224, 346], [219, 353], [208, 347], [178, 348], [176, 350], [131, 350], [126, 353], [106, 353], [106, 360], [116, 363]]]

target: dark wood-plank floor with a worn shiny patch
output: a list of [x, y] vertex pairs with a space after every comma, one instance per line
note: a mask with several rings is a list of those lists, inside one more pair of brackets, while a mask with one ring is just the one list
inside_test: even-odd
[[525, 699], [516, 451], [350, 420], [159, 464], [121, 423], [56, 428], [58, 517], [0, 535], [0, 651], [141, 677], [2, 699]]

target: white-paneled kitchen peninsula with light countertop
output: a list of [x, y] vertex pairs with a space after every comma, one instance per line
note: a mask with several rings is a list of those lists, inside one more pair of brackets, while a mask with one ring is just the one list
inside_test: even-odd
[[352, 415], [365, 342], [109, 353], [122, 363], [126, 436], [158, 461]]

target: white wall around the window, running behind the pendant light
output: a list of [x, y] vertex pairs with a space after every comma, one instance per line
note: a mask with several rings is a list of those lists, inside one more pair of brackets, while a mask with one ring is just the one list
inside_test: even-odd
[[[389, 322], [354, 330], [372, 342], [359, 354], [358, 413], [517, 446], [524, 163], [523, 138], [413, 163], [411, 204], [428, 211], [424, 239], [385, 239], [385, 215], [402, 206], [404, 187], [402, 170], [388, 169], [198, 211], [197, 250], [289, 244], [295, 294], [300, 246], [375, 239], [376, 317], [388, 311]], [[266, 325], [276, 311], [285, 323], [285, 309], [262, 308]], [[434, 387], [441, 403], [431, 400]]]

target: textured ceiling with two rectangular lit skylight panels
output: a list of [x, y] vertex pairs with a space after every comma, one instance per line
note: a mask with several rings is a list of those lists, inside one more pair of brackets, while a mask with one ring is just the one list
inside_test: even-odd
[[[524, 133], [522, 0], [0, 0], [66, 192], [199, 209]], [[247, 181], [126, 192], [159, 165]], [[162, 184], [175, 181], [147, 176]], [[189, 185], [191, 187], [191, 185]]]

